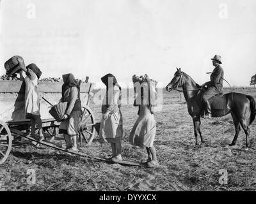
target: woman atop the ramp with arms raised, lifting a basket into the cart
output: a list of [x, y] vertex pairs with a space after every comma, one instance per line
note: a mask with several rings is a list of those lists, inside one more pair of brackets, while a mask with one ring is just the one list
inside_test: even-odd
[[[25, 81], [26, 90], [25, 90], [25, 114], [26, 119], [31, 120], [31, 136], [36, 138], [35, 129], [36, 125], [38, 126], [38, 136], [39, 141], [42, 142], [44, 140], [44, 134], [42, 131], [42, 120], [40, 116], [40, 101], [38, 95], [38, 80], [42, 75], [42, 72], [35, 64], [29, 64], [25, 66], [24, 60], [22, 57], [17, 57], [17, 61], [19, 62], [20, 68], [22, 70], [19, 71], [20, 79]], [[25, 71], [27, 77], [24, 78], [22, 75], [22, 71]]]

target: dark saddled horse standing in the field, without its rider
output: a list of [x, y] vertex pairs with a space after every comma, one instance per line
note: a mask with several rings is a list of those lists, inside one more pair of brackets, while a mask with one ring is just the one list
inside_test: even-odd
[[[204, 114], [204, 108], [202, 103], [202, 93], [204, 87], [196, 84], [196, 82], [191, 77], [189, 77], [189, 75], [181, 71], [180, 68], [177, 68], [177, 71], [175, 72], [171, 82], [166, 86], [166, 91], [179, 91], [179, 89], [177, 89], [178, 87], [182, 88], [184, 98], [186, 99], [188, 105], [188, 113], [193, 119], [196, 140], [195, 145], [198, 145], [198, 133], [200, 135], [201, 142], [204, 143], [204, 137], [200, 128], [200, 117], [202, 116], [202, 114]], [[223, 99], [223, 105], [225, 106], [225, 109], [212, 110], [212, 117], [223, 117], [224, 115], [231, 113], [236, 129], [236, 134], [232, 143], [230, 143], [229, 145], [236, 145], [237, 137], [242, 127], [246, 135], [246, 150], [248, 150], [250, 146], [249, 126], [250, 124], [252, 124], [256, 115], [255, 99], [253, 99], [253, 97], [250, 95], [237, 92], [228, 92], [227, 94], [223, 94], [223, 96], [225, 96], [225, 99]], [[211, 100], [211, 98], [209, 100]], [[246, 115], [248, 112], [250, 112], [249, 124], [247, 124], [246, 122]]]

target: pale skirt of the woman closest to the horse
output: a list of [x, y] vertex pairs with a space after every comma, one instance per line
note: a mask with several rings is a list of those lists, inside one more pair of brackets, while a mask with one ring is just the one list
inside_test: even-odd
[[140, 105], [139, 117], [136, 120], [129, 142], [138, 147], [152, 147], [156, 136], [156, 120], [148, 105]]

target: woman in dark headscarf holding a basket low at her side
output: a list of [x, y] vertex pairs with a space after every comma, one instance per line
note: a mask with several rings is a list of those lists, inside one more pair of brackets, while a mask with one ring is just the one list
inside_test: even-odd
[[60, 102], [67, 102], [67, 109], [60, 123], [59, 133], [64, 135], [68, 151], [77, 151], [77, 128], [80, 122], [82, 108], [80, 87], [74, 75], [62, 75], [62, 98]]

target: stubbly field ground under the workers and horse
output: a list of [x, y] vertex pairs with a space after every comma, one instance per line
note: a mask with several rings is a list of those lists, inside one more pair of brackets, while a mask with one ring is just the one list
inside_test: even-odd
[[[225, 90], [228, 92], [229, 90]], [[239, 88], [256, 99], [256, 89]], [[100, 121], [100, 106], [91, 105]], [[124, 158], [140, 161], [145, 149], [132, 147], [129, 133], [138, 109], [122, 106], [124, 117]], [[157, 158], [163, 168], [121, 166], [69, 156], [47, 147], [36, 149], [26, 140], [13, 142], [13, 149], [0, 168], [0, 191], [255, 191], [256, 190], [256, 122], [250, 126], [252, 148], [245, 150], [241, 131], [237, 144], [231, 115], [202, 119], [205, 144], [195, 147], [193, 121], [186, 101], [179, 92], [163, 91], [163, 110], [155, 114], [157, 122]], [[56, 142], [62, 142], [58, 140]], [[96, 133], [92, 145], [83, 144], [88, 157], [111, 154], [108, 143], [100, 144]], [[35, 184], [29, 184], [27, 171], [35, 170]], [[227, 184], [220, 184], [220, 171], [227, 170]]]

